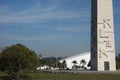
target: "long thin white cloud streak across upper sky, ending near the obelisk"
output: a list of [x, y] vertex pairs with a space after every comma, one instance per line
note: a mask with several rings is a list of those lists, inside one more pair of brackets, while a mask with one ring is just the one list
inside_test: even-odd
[[0, 15], [0, 23], [26, 23], [26, 22], [44, 22], [50, 19], [70, 19], [88, 16], [87, 12], [50, 12], [33, 15]]

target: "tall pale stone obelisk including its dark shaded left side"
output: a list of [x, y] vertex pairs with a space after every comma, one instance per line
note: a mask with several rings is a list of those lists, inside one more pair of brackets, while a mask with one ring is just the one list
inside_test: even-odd
[[115, 43], [112, 0], [92, 0], [91, 70], [115, 71]]

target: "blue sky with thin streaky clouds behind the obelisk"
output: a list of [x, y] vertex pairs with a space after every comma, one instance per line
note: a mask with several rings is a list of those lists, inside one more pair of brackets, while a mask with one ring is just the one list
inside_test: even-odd
[[[113, 0], [120, 53], [120, 0]], [[0, 49], [23, 44], [44, 57], [90, 51], [91, 0], [0, 0]]]

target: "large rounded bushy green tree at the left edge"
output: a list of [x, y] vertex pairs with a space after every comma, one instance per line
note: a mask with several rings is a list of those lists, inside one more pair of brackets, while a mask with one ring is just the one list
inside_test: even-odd
[[21, 44], [7, 47], [0, 54], [0, 70], [6, 72], [10, 80], [19, 80], [22, 71], [33, 70], [37, 65], [35, 52]]

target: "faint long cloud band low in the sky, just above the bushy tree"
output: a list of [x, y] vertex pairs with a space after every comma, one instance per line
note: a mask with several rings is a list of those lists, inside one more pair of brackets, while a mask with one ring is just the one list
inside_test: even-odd
[[62, 34], [46, 34], [41, 36], [20, 36], [15, 34], [0, 33], [0, 39], [4, 40], [20, 40], [20, 41], [50, 41], [67, 39], [66, 35]]

